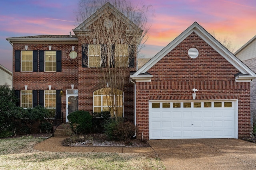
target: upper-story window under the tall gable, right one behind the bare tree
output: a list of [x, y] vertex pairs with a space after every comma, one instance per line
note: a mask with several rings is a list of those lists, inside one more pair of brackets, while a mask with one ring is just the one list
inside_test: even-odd
[[116, 67], [128, 67], [129, 63], [129, 52], [128, 45], [117, 44], [115, 47], [115, 65]]

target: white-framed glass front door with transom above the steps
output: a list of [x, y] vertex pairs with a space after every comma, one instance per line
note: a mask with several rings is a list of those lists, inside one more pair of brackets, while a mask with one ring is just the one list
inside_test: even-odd
[[78, 90], [67, 90], [66, 92], [66, 122], [68, 115], [78, 110]]

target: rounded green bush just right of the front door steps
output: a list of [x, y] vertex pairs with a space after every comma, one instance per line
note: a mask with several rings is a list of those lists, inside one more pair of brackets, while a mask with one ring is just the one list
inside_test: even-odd
[[92, 128], [92, 115], [88, 111], [74, 111], [67, 118], [73, 130], [80, 134], [90, 132]]

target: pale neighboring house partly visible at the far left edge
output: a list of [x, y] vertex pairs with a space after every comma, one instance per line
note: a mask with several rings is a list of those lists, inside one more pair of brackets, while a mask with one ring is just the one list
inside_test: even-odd
[[0, 64], [0, 85], [12, 88], [12, 72]]

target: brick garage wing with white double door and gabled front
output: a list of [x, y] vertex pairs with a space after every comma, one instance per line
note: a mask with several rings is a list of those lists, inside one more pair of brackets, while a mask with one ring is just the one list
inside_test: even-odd
[[136, 83], [138, 137], [250, 136], [256, 74], [196, 22], [130, 78]]

